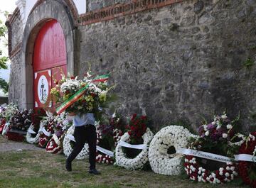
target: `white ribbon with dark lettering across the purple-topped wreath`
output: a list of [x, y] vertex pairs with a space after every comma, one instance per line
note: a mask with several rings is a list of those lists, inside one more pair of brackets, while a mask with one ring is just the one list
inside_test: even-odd
[[185, 148], [179, 148], [176, 153], [181, 153], [184, 155], [193, 155], [195, 157], [202, 157], [208, 160], [215, 160], [219, 162], [232, 162], [230, 157], [225, 157], [223, 155], [216, 155], [213, 153], [198, 151], [198, 150], [191, 150], [191, 149], [185, 149]]

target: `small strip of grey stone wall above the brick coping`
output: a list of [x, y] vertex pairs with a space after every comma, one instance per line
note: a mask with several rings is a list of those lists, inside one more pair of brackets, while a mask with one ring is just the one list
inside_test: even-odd
[[111, 6], [119, 3], [127, 3], [131, 1], [132, 0], [87, 0], [86, 7], [88, 12], [88, 11], [95, 11], [97, 9], [102, 9], [103, 7], [106, 7], [106, 6]]

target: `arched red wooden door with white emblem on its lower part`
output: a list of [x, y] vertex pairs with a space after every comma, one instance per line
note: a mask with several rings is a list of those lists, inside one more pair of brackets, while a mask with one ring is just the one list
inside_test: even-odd
[[34, 108], [46, 106], [50, 89], [55, 87], [53, 79], [60, 79], [60, 74], [67, 74], [65, 37], [60, 23], [51, 20], [39, 31], [33, 54], [33, 96]]

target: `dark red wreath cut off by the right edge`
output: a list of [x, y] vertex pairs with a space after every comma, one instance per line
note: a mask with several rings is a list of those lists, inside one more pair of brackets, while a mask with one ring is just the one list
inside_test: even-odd
[[[239, 149], [240, 154], [256, 155], [256, 132], [251, 133], [247, 138], [247, 141], [242, 143]], [[251, 174], [255, 173], [256, 162], [249, 161], [239, 161], [238, 169], [239, 175], [242, 177], [242, 180], [245, 184], [250, 185], [251, 187], [256, 187], [256, 179], [252, 178]]]

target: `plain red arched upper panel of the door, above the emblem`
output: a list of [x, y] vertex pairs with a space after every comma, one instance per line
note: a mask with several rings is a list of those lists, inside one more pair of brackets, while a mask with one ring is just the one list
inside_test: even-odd
[[33, 70], [46, 70], [66, 65], [65, 36], [58, 21], [45, 23], [36, 38], [33, 54]]

